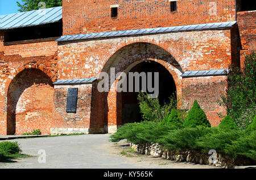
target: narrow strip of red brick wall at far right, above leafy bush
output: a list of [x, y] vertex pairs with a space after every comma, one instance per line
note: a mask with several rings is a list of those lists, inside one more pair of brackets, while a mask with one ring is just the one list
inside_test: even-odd
[[237, 13], [237, 23], [241, 40], [241, 66], [245, 56], [256, 51], [256, 11], [242, 11]]

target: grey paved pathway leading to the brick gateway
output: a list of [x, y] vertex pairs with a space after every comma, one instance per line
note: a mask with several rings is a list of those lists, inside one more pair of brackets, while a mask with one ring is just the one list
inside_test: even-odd
[[[145, 155], [122, 156], [120, 152], [124, 143], [111, 143], [109, 136], [80, 135], [8, 140], [18, 141], [23, 153], [34, 156], [15, 160], [16, 162], [0, 162], [0, 168], [214, 168]], [[38, 162], [40, 149], [46, 151], [46, 163], [43, 164]]]

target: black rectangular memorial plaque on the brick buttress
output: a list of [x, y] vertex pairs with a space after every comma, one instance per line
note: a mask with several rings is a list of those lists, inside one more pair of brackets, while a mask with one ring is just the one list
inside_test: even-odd
[[68, 89], [67, 112], [76, 113], [78, 88]]

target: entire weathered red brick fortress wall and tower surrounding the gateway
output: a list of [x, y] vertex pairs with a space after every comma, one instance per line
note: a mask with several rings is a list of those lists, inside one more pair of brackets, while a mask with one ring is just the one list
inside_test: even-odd
[[[110, 6], [118, 5], [117, 18]], [[215, 8], [216, 7], [216, 11]], [[228, 69], [242, 65], [255, 50], [255, 11], [237, 12], [234, 0], [180, 0], [177, 11], [163, 1], [64, 0], [63, 35], [137, 30], [189, 24], [236, 21], [232, 28], [164, 34], [105, 37], [59, 42], [55, 38], [5, 42], [0, 31], [0, 135], [40, 129], [43, 134], [113, 133], [123, 124], [122, 98], [115, 88], [121, 77], [100, 93], [98, 81], [54, 85], [59, 79], [110, 77], [110, 68], [130, 72], [141, 62], [154, 61], [174, 83], [181, 108], [195, 99], [217, 126], [226, 110], [218, 104], [227, 86], [226, 76], [188, 77], [193, 70]], [[161, 77], [160, 77], [161, 78]], [[170, 82], [165, 82], [170, 83]], [[163, 85], [164, 86], [164, 85]], [[77, 87], [77, 112], [67, 113], [68, 88]], [[134, 97], [133, 97], [134, 98]]]

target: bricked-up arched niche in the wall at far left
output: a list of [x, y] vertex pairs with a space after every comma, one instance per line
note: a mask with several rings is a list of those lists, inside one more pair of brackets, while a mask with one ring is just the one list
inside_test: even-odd
[[7, 135], [20, 135], [51, 128], [54, 88], [51, 78], [39, 69], [24, 69], [9, 85], [7, 92]]

